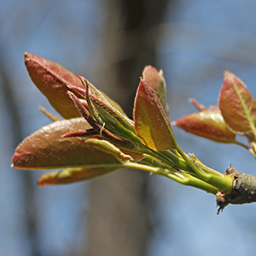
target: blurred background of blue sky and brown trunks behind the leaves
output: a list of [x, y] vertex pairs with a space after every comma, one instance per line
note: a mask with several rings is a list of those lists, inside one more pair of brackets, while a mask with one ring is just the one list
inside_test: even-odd
[[[36, 185], [43, 172], [10, 168], [22, 138], [54, 112], [23, 64], [31, 52], [84, 75], [131, 116], [143, 67], [163, 69], [170, 119], [188, 99], [216, 105], [224, 69], [256, 96], [253, 0], [0, 0], [0, 255], [254, 255], [256, 204], [228, 206], [166, 177], [121, 170], [66, 186]], [[256, 174], [245, 149], [174, 128], [207, 166]]]

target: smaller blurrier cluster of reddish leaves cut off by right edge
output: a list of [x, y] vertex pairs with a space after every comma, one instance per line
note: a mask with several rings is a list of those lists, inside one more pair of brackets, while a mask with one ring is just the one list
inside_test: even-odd
[[[218, 106], [206, 108], [195, 99], [190, 102], [199, 112], [177, 119], [172, 125], [217, 143], [238, 144], [256, 157], [256, 103], [241, 79], [228, 70], [224, 72]], [[238, 136], [246, 137], [248, 145], [237, 140]]]

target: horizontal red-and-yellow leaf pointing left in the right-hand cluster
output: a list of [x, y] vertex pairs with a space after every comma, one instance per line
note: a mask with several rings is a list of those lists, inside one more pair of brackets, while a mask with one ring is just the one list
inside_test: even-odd
[[218, 143], [234, 143], [236, 133], [230, 131], [218, 110], [204, 110], [191, 113], [174, 123], [177, 127]]

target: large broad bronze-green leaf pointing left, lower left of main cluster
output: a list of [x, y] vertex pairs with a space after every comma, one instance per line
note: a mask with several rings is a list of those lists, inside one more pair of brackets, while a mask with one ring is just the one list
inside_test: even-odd
[[13, 166], [21, 169], [106, 167], [120, 164], [113, 155], [84, 143], [84, 138], [61, 137], [70, 131], [91, 128], [83, 119], [67, 119], [46, 125], [20, 143]]

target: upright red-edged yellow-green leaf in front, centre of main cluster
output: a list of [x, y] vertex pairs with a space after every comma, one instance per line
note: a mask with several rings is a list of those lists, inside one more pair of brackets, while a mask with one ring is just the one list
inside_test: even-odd
[[154, 90], [144, 80], [140, 81], [137, 89], [133, 117], [137, 136], [149, 148], [175, 148], [172, 125]]

